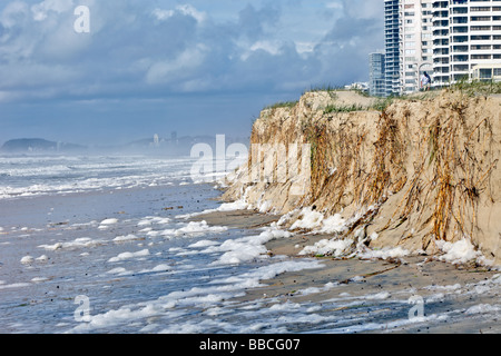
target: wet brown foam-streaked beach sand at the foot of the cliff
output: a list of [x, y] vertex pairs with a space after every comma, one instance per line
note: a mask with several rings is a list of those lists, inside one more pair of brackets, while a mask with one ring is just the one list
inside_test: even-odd
[[[206, 220], [209, 225], [225, 225], [229, 228], [256, 229], [278, 220], [278, 216], [263, 215], [252, 210], [216, 211], [193, 218]], [[286, 255], [291, 258], [302, 257], [297, 254], [305, 246], [315, 244], [328, 235], [294, 235], [269, 241], [266, 247], [271, 256]], [[298, 273], [285, 273], [271, 280], [263, 280], [264, 287], [246, 290], [242, 301], [269, 304], [317, 303], [325, 300], [371, 300], [379, 316], [372, 323], [380, 323], [386, 328], [375, 328], [376, 333], [500, 333], [501, 316], [499, 271], [482, 266], [455, 266], [431, 256], [410, 256], [396, 259], [334, 259], [315, 257], [324, 265], [321, 269]], [[337, 287], [326, 288], [335, 284]], [[310, 290], [310, 293], [302, 293]], [[423, 300], [424, 318], [420, 323], [399, 323], [387, 303], [393, 298], [411, 300], [419, 296]], [[377, 309], [379, 303], [381, 308]], [[384, 303], [384, 306], [383, 306]], [[397, 301], [395, 301], [397, 303]], [[356, 304], [355, 304], [356, 305]], [[403, 304], [406, 312], [413, 304]], [[350, 304], [333, 309], [332, 313], [362, 313]], [[369, 313], [369, 312], [364, 312]], [[371, 312], [372, 313], [372, 312]], [[375, 313], [375, 312], [374, 312]], [[393, 319], [392, 319], [393, 318]], [[383, 320], [383, 322], [381, 322]], [[362, 327], [360, 329], [364, 332]], [[358, 332], [346, 328], [343, 332]], [[370, 333], [374, 328], [369, 328]]]

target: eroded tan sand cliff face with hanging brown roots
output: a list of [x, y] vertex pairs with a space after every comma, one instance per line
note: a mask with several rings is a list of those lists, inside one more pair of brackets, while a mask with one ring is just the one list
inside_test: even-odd
[[364, 238], [371, 248], [435, 254], [440, 241], [468, 239], [498, 265], [500, 115], [501, 98], [459, 91], [383, 111], [346, 110], [333, 92], [308, 92], [261, 113], [248, 165], [224, 198], [285, 215], [288, 227], [305, 208], [336, 216], [344, 225], [333, 238]]

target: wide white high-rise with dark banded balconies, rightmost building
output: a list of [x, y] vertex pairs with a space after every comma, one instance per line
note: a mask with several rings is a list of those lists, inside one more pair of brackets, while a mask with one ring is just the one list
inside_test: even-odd
[[433, 86], [501, 63], [501, 0], [433, 1]]

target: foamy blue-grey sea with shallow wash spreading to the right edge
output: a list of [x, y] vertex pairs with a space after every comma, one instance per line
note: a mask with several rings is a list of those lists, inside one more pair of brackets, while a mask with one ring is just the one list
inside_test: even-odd
[[[276, 225], [247, 230], [191, 221], [243, 206], [218, 201], [217, 179], [194, 175], [195, 164], [141, 155], [0, 156], [0, 333], [372, 332], [460, 318], [464, 305], [454, 307], [444, 290], [499, 290], [498, 277], [430, 287], [426, 314], [415, 319], [409, 286], [352, 295], [325, 283], [291, 290], [296, 299], [247, 299], [264, 280], [324, 264], [269, 256], [267, 241], [292, 236]], [[353, 278], [358, 291], [364, 283]], [[335, 288], [337, 297], [308, 297]], [[499, 313], [498, 304], [469, 307], [472, 316]]]

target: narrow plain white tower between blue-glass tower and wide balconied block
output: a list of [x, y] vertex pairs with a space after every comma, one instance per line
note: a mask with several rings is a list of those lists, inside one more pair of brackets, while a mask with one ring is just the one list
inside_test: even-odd
[[400, 93], [421, 89], [433, 72], [433, 0], [400, 1]]

